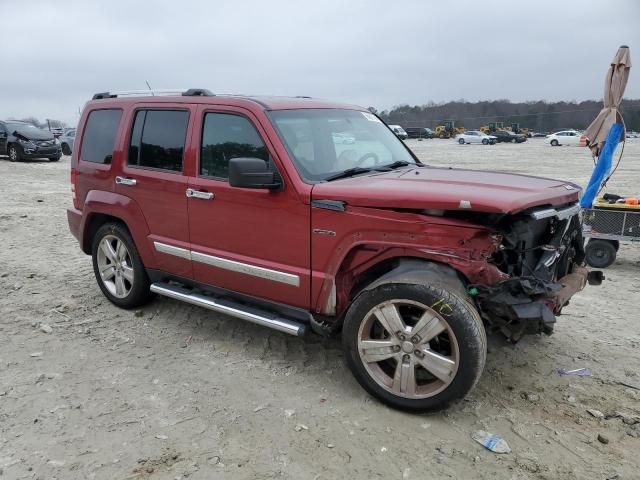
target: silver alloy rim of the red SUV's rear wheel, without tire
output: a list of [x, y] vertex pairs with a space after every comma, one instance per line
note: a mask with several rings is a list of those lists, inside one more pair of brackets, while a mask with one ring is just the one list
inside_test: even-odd
[[114, 235], [105, 235], [97, 256], [100, 279], [109, 293], [116, 298], [128, 296], [133, 288], [134, 274], [131, 255], [124, 242]]

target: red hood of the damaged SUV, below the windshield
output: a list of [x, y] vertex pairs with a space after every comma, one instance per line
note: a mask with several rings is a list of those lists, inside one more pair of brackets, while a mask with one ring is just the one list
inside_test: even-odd
[[579, 193], [578, 185], [548, 178], [417, 167], [319, 183], [312, 198], [360, 207], [517, 213], [577, 202]]

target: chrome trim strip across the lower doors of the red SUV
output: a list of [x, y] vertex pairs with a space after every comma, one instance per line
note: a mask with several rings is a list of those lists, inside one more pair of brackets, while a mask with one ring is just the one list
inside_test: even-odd
[[222, 268], [232, 272], [244, 273], [245, 275], [251, 275], [252, 277], [264, 278], [265, 280], [271, 280], [272, 282], [284, 283], [294, 287], [300, 286], [300, 277], [292, 273], [271, 270], [270, 268], [258, 267], [248, 263], [236, 262], [235, 260], [194, 252], [187, 250], [186, 248], [175, 247], [166, 243], [154, 241], [153, 245], [158, 252], [166, 253], [167, 255], [174, 255], [186, 260], [204, 263], [206, 265], [211, 265], [212, 267]]

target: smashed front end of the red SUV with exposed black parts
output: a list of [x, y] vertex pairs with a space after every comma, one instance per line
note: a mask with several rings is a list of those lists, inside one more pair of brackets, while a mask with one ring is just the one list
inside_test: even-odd
[[551, 334], [569, 299], [587, 282], [602, 280], [601, 272], [584, 266], [580, 206], [531, 209], [494, 227], [502, 240], [488, 261], [509, 278], [470, 286], [482, 316], [513, 342], [529, 333]]

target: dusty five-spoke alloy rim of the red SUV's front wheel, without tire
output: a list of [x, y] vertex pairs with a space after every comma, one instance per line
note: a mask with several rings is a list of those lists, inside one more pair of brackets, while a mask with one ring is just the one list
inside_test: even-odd
[[411, 300], [371, 309], [358, 330], [358, 353], [378, 385], [411, 399], [443, 391], [460, 363], [458, 342], [444, 317]]

